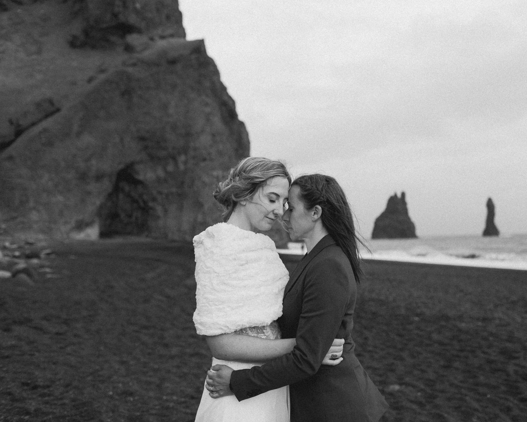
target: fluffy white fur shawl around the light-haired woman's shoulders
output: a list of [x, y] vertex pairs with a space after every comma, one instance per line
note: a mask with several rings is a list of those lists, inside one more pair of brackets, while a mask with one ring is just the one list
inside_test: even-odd
[[193, 242], [198, 334], [230, 333], [280, 317], [289, 273], [268, 236], [218, 223]]

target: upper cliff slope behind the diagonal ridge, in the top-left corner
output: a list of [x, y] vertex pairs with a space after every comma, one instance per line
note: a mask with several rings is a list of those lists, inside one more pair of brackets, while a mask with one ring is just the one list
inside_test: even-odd
[[168, 37], [185, 37], [177, 0], [0, 1], [0, 152], [135, 52], [138, 38]]

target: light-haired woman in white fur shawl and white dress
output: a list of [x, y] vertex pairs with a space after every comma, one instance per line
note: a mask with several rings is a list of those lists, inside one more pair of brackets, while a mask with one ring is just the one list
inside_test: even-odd
[[[211, 226], [193, 239], [194, 324], [198, 334], [207, 336], [212, 366], [251, 368], [295, 347], [295, 339], [280, 339], [276, 323], [289, 274], [274, 242], [257, 233], [269, 230], [284, 214], [290, 184], [291, 177], [279, 161], [256, 157], [240, 161], [214, 191], [214, 198], [226, 210], [226, 223]], [[325, 365], [340, 363], [343, 342], [334, 342]], [[203, 389], [196, 421], [289, 421], [288, 386], [243, 401], [213, 395], [213, 390]]]

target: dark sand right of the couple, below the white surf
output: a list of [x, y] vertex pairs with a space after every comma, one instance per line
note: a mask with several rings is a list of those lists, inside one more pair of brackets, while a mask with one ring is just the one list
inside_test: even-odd
[[523, 421], [527, 272], [366, 261], [357, 356], [394, 421]]

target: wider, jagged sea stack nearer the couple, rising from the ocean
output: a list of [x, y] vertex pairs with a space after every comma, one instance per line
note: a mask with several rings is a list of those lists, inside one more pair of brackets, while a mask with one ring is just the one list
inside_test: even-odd
[[417, 237], [415, 225], [408, 215], [406, 196], [395, 193], [388, 198], [388, 204], [382, 214], [375, 219], [372, 239], [397, 239]]

